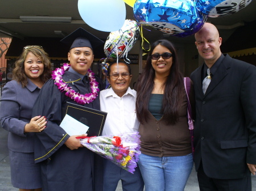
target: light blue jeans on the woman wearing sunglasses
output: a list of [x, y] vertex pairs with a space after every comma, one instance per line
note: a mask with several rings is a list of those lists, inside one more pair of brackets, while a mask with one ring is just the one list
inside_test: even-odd
[[185, 156], [139, 156], [146, 191], [183, 191], [193, 167], [192, 154]]

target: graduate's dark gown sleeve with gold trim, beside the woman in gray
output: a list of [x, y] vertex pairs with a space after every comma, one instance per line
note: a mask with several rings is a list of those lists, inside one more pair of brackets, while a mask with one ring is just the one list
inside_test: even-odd
[[32, 116], [45, 116], [46, 128], [36, 134], [35, 163], [51, 157], [70, 137], [59, 125], [62, 120], [62, 103], [65, 100], [52, 79], [44, 84], [35, 101]]

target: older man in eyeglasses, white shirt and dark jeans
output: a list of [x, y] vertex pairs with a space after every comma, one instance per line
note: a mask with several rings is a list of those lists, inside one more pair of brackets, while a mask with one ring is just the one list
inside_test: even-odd
[[[136, 91], [129, 87], [131, 69], [127, 63], [112, 63], [107, 79], [111, 88], [100, 92], [101, 111], [108, 112], [102, 135], [138, 131], [139, 123], [135, 112]], [[134, 174], [118, 167], [109, 160], [104, 162], [104, 190], [115, 191], [118, 181], [123, 190], [142, 191], [144, 182], [139, 167]]]

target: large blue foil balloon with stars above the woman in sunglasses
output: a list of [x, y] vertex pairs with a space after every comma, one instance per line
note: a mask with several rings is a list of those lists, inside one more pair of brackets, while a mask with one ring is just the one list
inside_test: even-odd
[[196, 33], [207, 18], [191, 0], [137, 0], [134, 17], [140, 24], [178, 37]]

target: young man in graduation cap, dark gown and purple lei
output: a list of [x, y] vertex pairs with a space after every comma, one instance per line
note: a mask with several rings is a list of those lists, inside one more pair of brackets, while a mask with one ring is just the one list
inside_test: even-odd
[[35, 163], [42, 167], [44, 191], [101, 191], [102, 158], [80, 144], [76, 139], [80, 135], [69, 136], [59, 125], [67, 101], [100, 110], [99, 91], [103, 87], [89, 68], [93, 48], [104, 42], [82, 28], [61, 41], [72, 44], [70, 65], [53, 71], [53, 79], [44, 84], [35, 101], [32, 116], [47, 118], [46, 129], [35, 138]]

